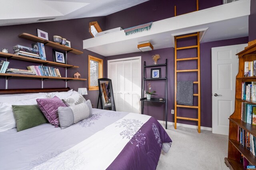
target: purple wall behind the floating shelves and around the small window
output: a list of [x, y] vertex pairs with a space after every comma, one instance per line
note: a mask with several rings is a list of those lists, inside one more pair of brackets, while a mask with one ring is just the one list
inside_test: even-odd
[[[71, 47], [83, 51], [82, 55], [75, 55], [73, 53], [68, 53], [68, 64], [79, 66], [78, 69], [68, 69], [68, 77], [73, 77], [76, 71], [79, 71], [81, 78], [88, 78], [88, 55], [99, 57], [105, 59], [104, 56], [98, 55], [88, 50], [83, 50], [83, 40], [91, 38], [88, 32], [88, 24], [90, 21], [98, 21], [102, 29], [105, 29], [105, 18], [106, 17], [95, 17], [95, 18], [82, 18], [74, 20], [63, 20], [63, 21], [52, 21], [43, 23], [31, 23], [23, 25], [11, 25], [0, 27], [0, 49], [7, 48], [9, 53], [13, 53], [12, 47], [14, 45], [24, 45], [31, 47], [32, 41], [19, 38], [20, 33], [30, 33], [32, 35], [37, 35], [37, 28], [48, 32], [49, 40], [53, 40], [53, 35], [60, 35], [71, 42]], [[48, 61], [53, 61], [52, 57], [52, 47], [45, 46], [46, 58]], [[5, 58], [0, 58], [0, 60], [5, 60]], [[20, 68], [26, 69], [29, 65], [40, 65], [37, 63], [31, 63], [26, 61], [19, 61], [14, 59], [9, 59], [10, 65], [8, 68]], [[62, 77], [65, 76], [65, 68], [59, 68]], [[68, 81], [67, 86], [77, 90], [79, 87], [88, 87], [88, 81]], [[62, 88], [65, 87], [64, 80], [44, 80], [44, 88]], [[12, 88], [41, 88], [40, 79], [32, 78], [9, 78], [8, 79], [8, 89]], [[5, 89], [5, 77], [0, 77], [0, 89]], [[96, 104], [98, 91], [88, 91], [88, 96], [85, 98], [90, 98], [92, 103]]]

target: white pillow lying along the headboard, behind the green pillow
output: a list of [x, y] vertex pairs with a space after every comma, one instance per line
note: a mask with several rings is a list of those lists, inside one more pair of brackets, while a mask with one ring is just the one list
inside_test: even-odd
[[5, 94], [0, 95], [0, 102], [14, 102], [20, 100], [28, 100], [32, 98], [38, 98], [45, 96], [47, 93], [27, 93], [27, 94]]

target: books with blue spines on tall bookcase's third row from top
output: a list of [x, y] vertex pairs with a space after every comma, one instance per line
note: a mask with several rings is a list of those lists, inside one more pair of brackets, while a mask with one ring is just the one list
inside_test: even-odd
[[256, 105], [242, 102], [241, 120], [256, 125]]

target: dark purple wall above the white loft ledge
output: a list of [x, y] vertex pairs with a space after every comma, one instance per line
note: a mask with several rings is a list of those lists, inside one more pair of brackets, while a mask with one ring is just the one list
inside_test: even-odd
[[[222, 4], [222, 0], [199, 0], [199, 10]], [[196, 0], [150, 0], [106, 16], [106, 29], [133, 27], [151, 21], [174, 17], [196, 10]]]

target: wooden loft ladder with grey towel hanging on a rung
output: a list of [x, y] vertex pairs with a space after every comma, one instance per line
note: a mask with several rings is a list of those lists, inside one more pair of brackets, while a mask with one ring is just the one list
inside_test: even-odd
[[[188, 46], [188, 47], [179, 47], [177, 48], [177, 39], [183, 39], [183, 38], [187, 38], [187, 37], [197, 37], [197, 45], [193, 45], [193, 46]], [[197, 33], [192, 33], [189, 35], [181, 35], [181, 36], [175, 36], [175, 106], [174, 106], [174, 129], [177, 128], [177, 119], [185, 119], [185, 120], [191, 120], [191, 121], [198, 121], [198, 133], [200, 133], [200, 112], [201, 112], [201, 95], [200, 95], [200, 42], [199, 42], [199, 32]], [[177, 59], [177, 51], [178, 50], [183, 50], [183, 49], [191, 49], [191, 48], [197, 48], [197, 57], [190, 57], [190, 58], [185, 58], [185, 59]], [[193, 69], [193, 70], [177, 70], [177, 63], [180, 61], [191, 61], [191, 60], [197, 60], [197, 69]], [[178, 73], [182, 73], [182, 72], [197, 72], [197, 81], [194, 81], [194, 84], [198, 84], [198, 94], [194, 94], [194, 96], [196, 96], [198, 98], [198, 106], [184, 106], [184, 105], [177, 105], [176, 102], [176, 93], [177, 93], [177, 74]], [[184, 107], [187, 109], [198, 109], [198, 118], [189, 118], [189, 117], [178, 117], [177, 116], [177, 107]]]

